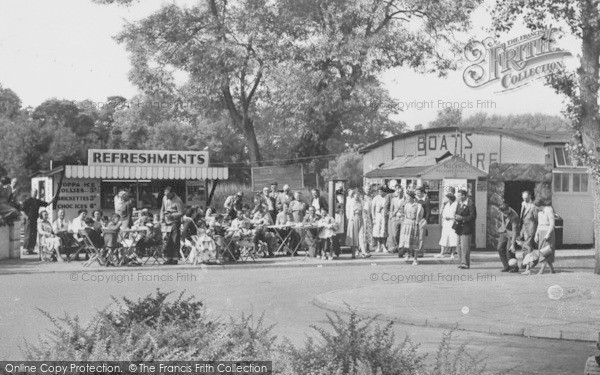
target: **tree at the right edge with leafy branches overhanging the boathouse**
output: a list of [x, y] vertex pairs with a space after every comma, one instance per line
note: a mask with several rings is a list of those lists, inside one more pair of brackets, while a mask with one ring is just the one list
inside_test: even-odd
[[509, 30], [517, 19], [523, 19], [531, 30], [561, 26], [581, 41], [579, 68], [575, 72], [556, 73], [547, 82], [567, 100], [564, 113], [571, 122], [575, 139], [572, 154], [592, 173], [595, 273], [600, 274], [600, 3], [597, 0], [498, 0], [493, 14], [498, 32]]

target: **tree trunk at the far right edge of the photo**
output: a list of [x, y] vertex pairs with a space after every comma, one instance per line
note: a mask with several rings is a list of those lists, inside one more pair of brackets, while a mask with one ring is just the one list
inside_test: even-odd
[[[600, 145], [600, 121], [598, 113], [598, 68], [600, 46], [597, 38], [598, 8], [593, 2], [583, 0], [581, 4], [581, 68], [578, 72], [581, 116], [579, 130], [583, 145], [596, 155]], [[594, 242], [596, 250], [595, 273], [600, 274], [600, 183], [592, 174], [591, 186], [594, 189]]]

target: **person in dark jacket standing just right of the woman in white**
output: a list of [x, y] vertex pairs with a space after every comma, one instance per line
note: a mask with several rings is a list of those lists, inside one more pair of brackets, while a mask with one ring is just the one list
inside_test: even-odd
[[458, 207], [456, 208], [455, 231], [458, 234], [458, 257], [460, 259], [461, 269], [469, 269], [471, 267], [471, 239], [473, 237], [475, 219], [477, 211], [475, 205], [467, 197], [466, 190], [458, 191]]

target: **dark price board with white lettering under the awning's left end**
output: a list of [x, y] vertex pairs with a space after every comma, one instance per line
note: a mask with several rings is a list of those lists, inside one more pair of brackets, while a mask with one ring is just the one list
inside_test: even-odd
[[93, 210], [100, 209], [100, 181], [65, 179], [56, 208], [65, 210], [69, 220], [73, 220], [81, 209], [87, 210], [91, 215]]

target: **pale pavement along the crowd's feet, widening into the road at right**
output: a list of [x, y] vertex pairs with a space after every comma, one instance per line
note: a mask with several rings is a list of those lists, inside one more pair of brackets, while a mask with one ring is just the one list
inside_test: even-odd
[[[425, 254], [412, 266], [395, 254], [374, 254], [334, 261], [303, 255], [257, 259], [224, 265], [137, 267], [83, 267], [83, 262], [44, 263], [36, 259], [0, 262], [0, 275], [226, 270], [261, 268], [370, 267], [370, 282], [316, 294], [313, 303], [323, 309], [394, 320], [404, 325], [455, 328], [487, 334], [595, 342], [600, 331], [600, 275], [592, 273], [593, 249], [557, 250], [557, 274], [524, 276], [501, 273], [495, 252], [472, 253], [470, 270], [458, 269], [456, 260]], [[572, 265], [572, 266], [571, 266]], [[583, 265], [583, 266], [581, 266]], [[393, 267], [390, 267], [393, 266]], [[333, 271], [333, 270], [332, 270]], [[534, 271], [537, 271], [535, 269]], [[287, 272], [281, 270], [280, 272]], [[546, 271], [548, 272], [548, 270]]]

